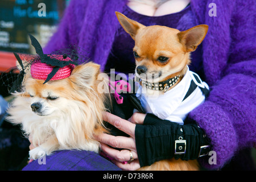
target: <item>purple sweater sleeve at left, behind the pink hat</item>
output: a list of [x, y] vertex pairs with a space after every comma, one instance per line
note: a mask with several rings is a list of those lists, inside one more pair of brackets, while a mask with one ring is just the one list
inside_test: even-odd
[[56, 32], [43, 48], [44, 53], [51, 53], [78, 44], [81, 22], [86, 11], [87, 1], [72, 0], [60, 19]]

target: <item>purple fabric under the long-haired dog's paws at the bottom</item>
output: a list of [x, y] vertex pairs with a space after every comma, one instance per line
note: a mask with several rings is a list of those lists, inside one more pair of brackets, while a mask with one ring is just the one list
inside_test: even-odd
[[23, 171], [119, 171], [113, 163], [95, 152], [62, 150], [46, 159], [33, 160]]

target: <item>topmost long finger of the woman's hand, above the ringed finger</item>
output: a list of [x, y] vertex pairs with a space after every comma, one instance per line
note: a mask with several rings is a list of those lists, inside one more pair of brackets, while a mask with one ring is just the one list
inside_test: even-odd
[[135, 126], [134, 123], [131, 123], [125, 119], [122, 119], [114, 114], [104, 112], [103, 120], [109, 122], [111, 125], [115, 126], [117, 129], [125, 132], [131, 137], [135, 138]]

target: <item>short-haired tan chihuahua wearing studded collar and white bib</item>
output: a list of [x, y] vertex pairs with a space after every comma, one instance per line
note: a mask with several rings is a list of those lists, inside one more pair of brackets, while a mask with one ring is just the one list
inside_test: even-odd
[[[137, 97], [142, 107], [160, 119], [183, 125], [189, 111], [205, 100], [201, 88], [208, 89], [208, 85], [188, 68], [190, 52], [195, 51], [203, 41], [208, 26], [201, 24], [179, 31], [165, 26], [144, 26], [121, 13], [115, 14], [124, 30], [135, 40], [135, 73], [141, 79], [140, 89], [144, 91], [137, 92]], [[186, 96], [192, 80], [197, 88]], [[158, 97], [152, 99], [151, 96], [156, 94]], [[179, 155], [179, 152], [176, 154]], [[197, 160], [173, 158], [141, 169], [199, 170], [199, 166]]]

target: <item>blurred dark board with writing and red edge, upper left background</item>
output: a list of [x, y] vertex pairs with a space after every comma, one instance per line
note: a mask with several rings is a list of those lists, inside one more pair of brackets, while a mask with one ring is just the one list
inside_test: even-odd
[[[42, 2], [45, 6], [39, 5]], [[69, 0], [0, 0], [0, 71], [15, 66], [13, 52], [34, 53], [28, 34], [44, 47], [68, 3]]]

